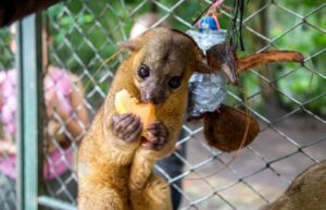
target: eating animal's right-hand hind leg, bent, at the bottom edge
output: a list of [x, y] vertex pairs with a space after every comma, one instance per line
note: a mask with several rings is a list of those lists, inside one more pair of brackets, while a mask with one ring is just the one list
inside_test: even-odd
[[172, 210], [168, 184], [151, 174], [143, 188], [131, 192], [133, 210]]

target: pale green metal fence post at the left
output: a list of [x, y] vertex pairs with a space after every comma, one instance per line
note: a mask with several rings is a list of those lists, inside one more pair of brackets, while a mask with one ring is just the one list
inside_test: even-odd
[[18, 23], [17, 209], [38, 210], [42, 172], [42, 74], [40, 15]]

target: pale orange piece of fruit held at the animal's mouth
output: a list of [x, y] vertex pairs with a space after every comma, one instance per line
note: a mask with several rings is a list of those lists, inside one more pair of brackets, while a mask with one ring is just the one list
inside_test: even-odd
[[145, 129], [152, 122], [156, 121], [155, 106], [152, 103], [140, 103], [136, 98], [131, 97], [126, 89], [115, 95], [115, 111], [120, 114], [134, 113], [140, 116], [143, 124], [141, 136], [148, 138], [148, 132]]

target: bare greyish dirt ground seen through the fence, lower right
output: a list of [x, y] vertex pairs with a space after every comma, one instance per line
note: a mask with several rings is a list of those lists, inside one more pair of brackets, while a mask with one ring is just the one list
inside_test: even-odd
[[[260, 125], [262, 132], [256, 139], [229, 168], [222, 162], [228, 162], [235, 153], [213, 150], [214, 159], [203, 143], [202, 132], [188, 140], [185, 172], [191, 168], [192, 171], [184, 178], [184, 199], [179, 209], [259, 209], [275, 200], [314, 160], [326, 159], [326, 124], [313, 116], [293, 114], [271, 125], [262, 122]], [[299, 150], [300, 146], [309, 144], [312, 145], [303, 148], [303, 152]], [[271, 161], [267, 168], [266, 162]], [[214, 175], [191, 180], [210, 174]]]

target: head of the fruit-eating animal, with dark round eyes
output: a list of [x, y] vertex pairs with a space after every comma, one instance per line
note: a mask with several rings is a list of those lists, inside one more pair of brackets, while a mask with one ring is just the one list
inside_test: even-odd
[[193, 72], [211, 72], [188, 35], [171, 28], [150, 29], [122, 44], [131, 51], [133, 75], [142, 102], [159, 104], [185, 91]]

